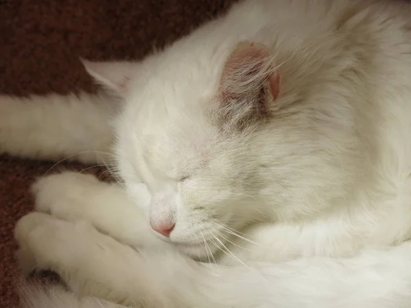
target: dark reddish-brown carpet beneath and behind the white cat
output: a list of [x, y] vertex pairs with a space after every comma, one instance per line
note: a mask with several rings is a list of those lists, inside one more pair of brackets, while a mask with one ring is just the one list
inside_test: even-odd
[[[138, 60], [153, 46], [186, 34], [232, 2], [0, 0], [0, 93], [21, 96], [95, 90], [79, 56]], [[10, 307], [17, 300], [12, 285], [14, 224], [32, 209], [30, 183], [51, 166], [51, 162], [0, 156], [0, 307]]]

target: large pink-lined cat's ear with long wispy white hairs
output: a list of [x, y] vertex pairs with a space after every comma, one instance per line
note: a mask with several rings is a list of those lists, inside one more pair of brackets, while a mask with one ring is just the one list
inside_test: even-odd
[[227, 58], [217, 98], [231, 125], [247, 125], [266, 118], [280, 90], [280, 75], [273, 56], [262, 44], [242, 42]]

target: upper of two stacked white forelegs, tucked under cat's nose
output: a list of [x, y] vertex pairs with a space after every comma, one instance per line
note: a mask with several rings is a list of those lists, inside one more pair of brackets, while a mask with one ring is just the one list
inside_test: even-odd
[[38, 180], [32, 191], [37, 211], [67, 221], [88, 221], [134, 247], [165, 244], [153, 235], [141, 209], [150, 201], [144, 185], [130, 201], [119, 184], [99, 181], [94, 175], [62, 172]]

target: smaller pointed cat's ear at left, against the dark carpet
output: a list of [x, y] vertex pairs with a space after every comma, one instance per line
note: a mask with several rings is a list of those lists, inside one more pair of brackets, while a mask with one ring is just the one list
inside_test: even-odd
[[135, 64], [127, 61], [94, 62], [80, 59], [87, 73], [98, 84], [123, 96], [127, 93], [129, 81], [135, 73]]

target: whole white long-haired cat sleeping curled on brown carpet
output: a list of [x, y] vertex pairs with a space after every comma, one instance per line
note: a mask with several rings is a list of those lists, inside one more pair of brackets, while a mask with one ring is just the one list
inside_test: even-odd
[[34, 184], [18, 259], [71, 291], [26, 307], [411, 307], [409, 16], [245, 0], [142, 62], [84, 60], [107, 94], [1, 97], [1, 151], [111, 152], [119, 177]]

